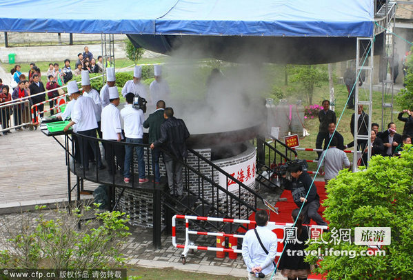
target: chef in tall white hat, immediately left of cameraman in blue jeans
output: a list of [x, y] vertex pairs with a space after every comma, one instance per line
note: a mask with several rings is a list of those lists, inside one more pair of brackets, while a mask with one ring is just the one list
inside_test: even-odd
[[[122, 127], [121, 127], [121, 112], [117, 108], [120, 103], [118, 87], [109, 88], [108, 106], [102, 110], [102, 134], [103, 139], [112, 141], [122, 141]], [[115, 166], [114, 157], [119, 166], [120, 172], [123, 175], [123, 164], [125, 163], [125, 150], [123, 145], [105, 143], [106, 160], [108, 161], [108, 170], [110, 174], [116, 174], [117, 167]]]

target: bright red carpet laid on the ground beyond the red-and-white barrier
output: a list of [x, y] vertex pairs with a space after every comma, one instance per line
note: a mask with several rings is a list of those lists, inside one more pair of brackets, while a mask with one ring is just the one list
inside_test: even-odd
[[[323, 181], [316, 181], [314, 182], [316, 188], [317, 188], [317, 193], [319, 194], [320, 197], [320, 203], [323, 203], [324, 199], [327, 198], [325, 194], [325, 183]], [[276, 203], [275, 207], [279, 208], [279, 214], [275, 214], [274, 212], [268, 210], [270, 213], [270, 221], [274, 221], [277, 223], [292, 223], [292, 218], [291, 218], [291, 212], [295, 208], [298, 208], [296, 204], [294, 203], [294, 200], [292, 200], [292, 195], [290, 190], [284, 190], [283, 193], [281, 194], [281, 198], [286, 198], [287, 201], [279, 201]], [[323, 212], [324, 212], [324, 207], [320, 206], [319, 208], [319, 214], [323, 217]], [[250, 220], [254, 220], [255, 213], [252, 213], [250, 216]], [[315, 225], [316, 223], [311, 220], [310, 225]], [[244, 225], [247, 226], [247, 225]], [[252, 228], [252, 227], [250, 227]], [[239, 232], [245, 232], [245, 230], [239, 230]], [[283, 238], [284, 232], [281, 229], [275, 229], [273, 232], [276, 233], [277, 237], [279, 239]], [[279, 243], [279, 246], [277, 246], [277, 251], [282, 252], [283, 251], [283, 244]], [[279, 257], [276, 257], [275, 261], [277, 262]], [[322, 275], [319, 274], [311, 274], [308, 276], [308, 279], [324, 279]]]

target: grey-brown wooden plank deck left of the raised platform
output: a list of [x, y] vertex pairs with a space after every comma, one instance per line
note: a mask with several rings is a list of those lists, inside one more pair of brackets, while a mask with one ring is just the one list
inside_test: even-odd
[[[63, 137], [57, 137], [63, 142]], [[85, 189], [97, 184], [85, 181]], [[63, 148], [39, 129], [0, 136], [0, 212], [7, 208], [68, 201]], [[92, 196], [82, 196], [90, 198]], [[76, 198], [72, 192], [72, 200]]]

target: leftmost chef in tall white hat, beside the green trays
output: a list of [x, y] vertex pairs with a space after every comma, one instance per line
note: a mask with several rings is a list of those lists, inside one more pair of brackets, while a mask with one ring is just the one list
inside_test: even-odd
[[[76, 81], [68, 83], [68, 93], [76, 100], [72, 110], [72, 121], [64, 128], [63, 131], [68, 131], [73, 126], [73, 131], [85, 136], [96, 138], [97, 121], [94, 114], [94, 102], [91, 98], [83, 97], [82, 93], [77, 88]], [[89, 149], [92, 149], [94, 158], [97, 159], [97, 167], [105, 168], [101, 161], [101, 152], [97, 147], [97, 143], [90, 139], [79, 140], [79, 150], [81, 155], [81, 168], [85, 171], [89, 170]]]

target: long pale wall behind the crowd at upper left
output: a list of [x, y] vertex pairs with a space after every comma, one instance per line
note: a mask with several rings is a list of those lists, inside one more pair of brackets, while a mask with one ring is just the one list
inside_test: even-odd
[[[88, 45], [89, 51], [92, 52], [94, 57], [98, 57], [102, 54], [101, 45]], [[32, 62], [32, 61], [64, 61], [70, 59], [75, 61], [77, 54], [83, 52], [82, 45], [73, 46], [30, 46], [30, 47], [15, 47], [6, 48], [0, 47], [0, 61], [2, 63], [8, 63], [8, 54], [16, 54], [16, 63]], [[114, 44], [114, 57], [115, 59], [124, 59], [125, 44]]]

